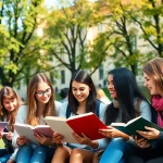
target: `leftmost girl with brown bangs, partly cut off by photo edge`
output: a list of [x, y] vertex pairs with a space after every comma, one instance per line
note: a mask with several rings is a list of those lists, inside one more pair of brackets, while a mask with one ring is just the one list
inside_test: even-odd
[[[4, 149], [0, 149], [0, 162], [1, 163], [12, 163], [15, 160], [14, 148], [12, 147], [12, 136], [13, 136], [13, 124], [15, 123], [15, 116], [22, 102], [17, 93], [11, 87], [3, 87], [0, 90], [0, 121], [9, 122], [4, 131], [9, 133], [3, 135], [0, 133], [0, 138], [3, 139]], [[16, 153], [16, 151], [15, 151]], [[12, 159], [10, 160], [10, 156]]]

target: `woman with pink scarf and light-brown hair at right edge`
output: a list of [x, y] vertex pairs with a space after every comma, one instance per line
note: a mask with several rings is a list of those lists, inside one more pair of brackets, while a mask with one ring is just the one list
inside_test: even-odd
[[[152, 97], [151, 103], [156, 113], [156, 123], [163, 127], [163, 59], [149, 61], [143, 66], [143, 77], [145, 86]], [[135, 137], [135, 141], [143, 150], [127, 156], [128, 163], [163, 163], [163, 131], [148, 126], [146, 129], [148, 131], [138, 131], [146, 139]]]

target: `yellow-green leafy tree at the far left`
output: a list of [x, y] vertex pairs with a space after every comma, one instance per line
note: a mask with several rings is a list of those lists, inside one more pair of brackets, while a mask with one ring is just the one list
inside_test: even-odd
[[0, 83], [20, 85], [23, 78], [37, 73], [46, 63], [43, 40], [35, 35], [39, 23], [41, 0], [1, 0], [0, 2]]

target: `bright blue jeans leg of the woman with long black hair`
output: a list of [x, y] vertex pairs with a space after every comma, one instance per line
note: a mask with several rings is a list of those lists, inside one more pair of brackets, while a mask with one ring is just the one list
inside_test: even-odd
[[104, 150], [100, 163], [124, 163], [124, 151], [126, 141], [122, 138], [114, 138]]

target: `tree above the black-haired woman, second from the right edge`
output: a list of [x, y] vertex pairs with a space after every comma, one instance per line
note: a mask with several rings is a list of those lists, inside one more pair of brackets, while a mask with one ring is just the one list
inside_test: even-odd
[[103, 15], [106, 30], [99, 35], [95, 47], [101, 45], [102, 50], [99, 53], [108, 53], [110, 58], [115, 59], [115, 66], [125, 65], [137, 75], [137, 63], [141, 57], [136, 45], [138, 29], [127, 13], [133, 11], [133, 7], [122, 0], [102, 0], [99, 4], [108, 11]]

